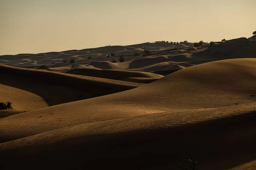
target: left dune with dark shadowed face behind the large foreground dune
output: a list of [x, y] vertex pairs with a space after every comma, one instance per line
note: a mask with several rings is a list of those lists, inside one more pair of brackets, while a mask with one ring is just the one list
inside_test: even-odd
[[0, 101], [32, 111], [51, 105], [112, 94], [140, 86], [97, 77], [76, 76], [0, 65]]

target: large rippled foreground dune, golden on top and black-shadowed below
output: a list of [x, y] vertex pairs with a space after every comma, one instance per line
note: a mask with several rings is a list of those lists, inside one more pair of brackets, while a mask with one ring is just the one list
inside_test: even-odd
[[9, 116], [0, 119], [1, 161], [9, 169], [32, 169], [45, 157], [41, 169], [161, 169], [194, 153], [203, 169], [232, 168], [256, 151], [255, 84], [256, 59], [229, 59], [129, 91]]

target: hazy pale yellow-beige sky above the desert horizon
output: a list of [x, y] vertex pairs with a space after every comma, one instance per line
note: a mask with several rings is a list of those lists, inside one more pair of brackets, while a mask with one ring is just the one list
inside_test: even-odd
[[251, 37], [256, 0], [0, 0], [0, 55]]

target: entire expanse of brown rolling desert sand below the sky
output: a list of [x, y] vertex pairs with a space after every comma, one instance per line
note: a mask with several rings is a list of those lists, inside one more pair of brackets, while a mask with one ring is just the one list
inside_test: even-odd
[[192, 46], [0, 56], [3, 169], [255, 170], [256, 42]]

